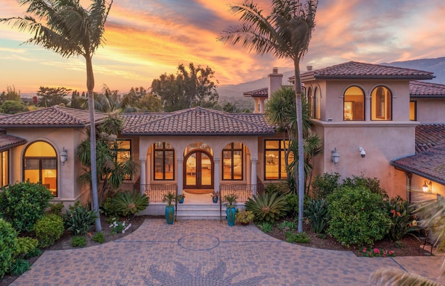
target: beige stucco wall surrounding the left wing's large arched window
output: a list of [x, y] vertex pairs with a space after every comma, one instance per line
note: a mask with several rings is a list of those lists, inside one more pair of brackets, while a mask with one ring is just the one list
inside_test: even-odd
[[[77, 145], [86, 138], [85, 129], [62, 128], [33, 128], [33, 129], [8, 129], [8, 134], [26, 138], [26, 144], [13, 148], [11, 151], [10, 182], [21, 182], [23, 178], [23, 154], [26, 146], [35, 141], [46, 141], [51, 144], [57, 153], [58, 172], [58, 197], [54, 201], [62, 201], [69, 205], [75, 200], [87, 202], [89, 200], [88, 185], [80, 184], [77, 178], [81, 174], [82, 166], [75, 157]], [[67, 161], [65, 165], [60, 163], [60, 152], [65, 147]]]

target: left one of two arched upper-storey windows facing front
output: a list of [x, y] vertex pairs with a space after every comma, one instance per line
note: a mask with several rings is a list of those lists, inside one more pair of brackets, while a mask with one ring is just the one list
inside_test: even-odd
[[364, 92], [362, 88], [351, 86], [345, 91], [343, 120], [364, 120]]

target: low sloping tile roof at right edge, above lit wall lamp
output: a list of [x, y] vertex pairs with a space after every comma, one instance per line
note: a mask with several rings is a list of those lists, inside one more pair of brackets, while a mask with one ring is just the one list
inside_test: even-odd
[[445, 184], [445, 144], [420, 154], [391, 161], [391, 165], [439, 184]]

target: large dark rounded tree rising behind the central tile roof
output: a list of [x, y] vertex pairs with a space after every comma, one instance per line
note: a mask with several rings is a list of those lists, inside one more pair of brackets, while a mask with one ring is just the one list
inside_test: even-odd
[[[216, 84], [211, 80], [215, 72], [210, 67], [179, 65], [177, 74], [161, 74], [152, 81], [152, 93], [161, 98], [164, 111], [189, 109], [193, 106], [212, 108], [218, 102]], [[218, 81], [216, 81], [218, 83]]]

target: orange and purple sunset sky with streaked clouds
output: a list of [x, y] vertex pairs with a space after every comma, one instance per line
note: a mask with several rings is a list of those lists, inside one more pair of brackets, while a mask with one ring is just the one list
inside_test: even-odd
[[[247, 53], [216, 41], [238, 17], [226, 0], [115, 0], [106, 22], [106, 44], [93, 57], [95, 90], [119, 93], [151, 86], [180, 63], [209, 66], [219, 85], [259, 79], [272, 67], [292, 70], [289, 60]], [[232, 3], [242, 1], [232, 0]], [[270, 1], [254, 0], [270, 10]], [[81, 0], [84, 6], [90, 1]], [[0, 17], [23, 16], [16, 0], [0, 0]], [[0, 92], [15, 86], [35, 93], [40, 86], [86, 90], [83, 58], [62, 58], [34, 45], [26, 32], [0, 24]], [[320, 0], [316, 28], [301, 67], [346, 61], [382, 63], [445, 56], [443, 0]]]

